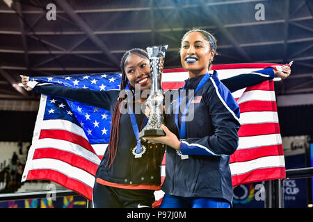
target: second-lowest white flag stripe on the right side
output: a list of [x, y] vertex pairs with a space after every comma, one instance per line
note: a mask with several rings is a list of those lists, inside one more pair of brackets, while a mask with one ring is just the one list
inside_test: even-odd
[[239, 137], [239, 145], [237, 150], [256, 148], [261, 146], [273, 146], [278, 144], [282, 144], [282, 137], [280, 136], [280, 134]]

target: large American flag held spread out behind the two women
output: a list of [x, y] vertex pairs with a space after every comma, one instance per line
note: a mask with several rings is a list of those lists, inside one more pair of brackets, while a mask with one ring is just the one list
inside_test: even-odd
[[[211, 69], [217, 70], [218, 78], [223, 79], [273, 65], [215, 65]], [[164, 70], [162, 87], [164, 90], [177, 89], [184, 85], [186, 78], [188, 72], [184, 69]], [[120, 73], [46, 76], [31, 80], [108, 90], [118, 89]], [[241, 110], [239, 147], [230, 157], [233, 186], [285, 178], [273, 86], [273, 80], [268, 80], [233, 93]], [[111, 114], [108, 110], [42, 95], [22, 181], [51, 180], [91, 200], [95, 171], [109, 143], [110, 129]], [[164, 157], [161, 167], [163, 179], [165, 164]], [[154, 194], [156, 200], [161, 200], [163, 191], [155, 191]]]

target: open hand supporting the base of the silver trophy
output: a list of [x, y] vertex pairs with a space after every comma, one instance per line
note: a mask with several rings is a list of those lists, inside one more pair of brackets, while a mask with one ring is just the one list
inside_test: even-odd
[[166, 144], [172, 148], [175, 148], [175, 150], [179, 151], [180, 141], [177, 138], [177, 136], [170, 132], [166, 126], [161, 124], [161, 128], [164, 130], [164, 133], [166, 133], [163, 137], [144, 137], [143, 139], [146, 139], [150, 143], [154, 144]]

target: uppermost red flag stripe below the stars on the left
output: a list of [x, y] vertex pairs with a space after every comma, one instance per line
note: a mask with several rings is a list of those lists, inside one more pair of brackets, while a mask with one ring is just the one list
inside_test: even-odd
[[66, 140], [68, 142], [72, 142], [73, 144], [82, 146], [83, 148], [86, 148], [90, 152], [95, 153], [93, 147], [90, 145], [88, 140], [81, 137], [80, 135], [71, 133], [67, 130], [40, 130], [39, 139], [45, 138]]

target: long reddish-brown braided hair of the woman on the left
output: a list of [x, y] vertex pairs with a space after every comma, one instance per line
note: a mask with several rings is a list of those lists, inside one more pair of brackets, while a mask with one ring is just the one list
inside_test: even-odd
[[[134, 87], [132, 87], [129, 84], [129, 80], [127, 79], [126, 72], [125, 72], [125, 62], [127, 62], [127, 58], [131, 55], [138, 55], [142, 56], [143, 58], [149, 59], [147, 53], [143, 49], [131, 49], [124, 53], [122, 56], [122, 59], [120, 61], [120, 68], [122, 69], [122, 80], [120, 83], [120, 90], [126, 89], [126, 87], [129, 87], [129, 89], [134, 94]], [[116, 153], [118, 151], [118, 142], [120, 137], [120, 106], [124, 98], [119, 97], [118, 102], [115, 105], [113, 117], [112, 117], [112, 124], [111, 124], [111, 135], [110, 135], [110, 142], [109, 142], [109, 158], [108, 162], [106, 163], [106, 167], [111, 167], [113, 164], [113, 161], [115, 159]]]

